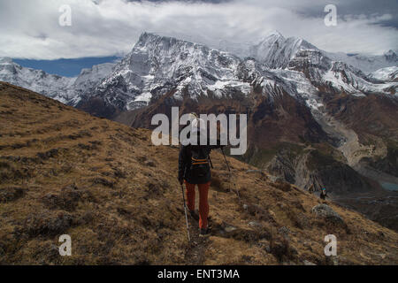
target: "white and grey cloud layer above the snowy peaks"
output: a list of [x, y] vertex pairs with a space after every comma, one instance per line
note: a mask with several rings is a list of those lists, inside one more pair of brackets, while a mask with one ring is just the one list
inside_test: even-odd
[[[398, 49], [396, 0], [0, 0], [0, 57], [57, 59], [126, 54], [143, 31], [222, 47], [258, 42], [272, 30], [327, 51]], [[61, 27], [59, 7], [72, 8]], [[337, 7], [337, 27], [324, 23]]]

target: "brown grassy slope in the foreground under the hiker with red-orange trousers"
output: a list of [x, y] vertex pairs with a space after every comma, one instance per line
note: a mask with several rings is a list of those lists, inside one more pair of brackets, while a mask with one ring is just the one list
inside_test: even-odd
[[[218, 153], [213, 232], [191, 221], [188, 244], [177, 157], [147, 130], [0, 83], [0, 264], [330, 264], [329, 233], [339, 264], [398, 263], [397, 233], [332, 203], [346, 225], [316, 218], [318, 198], [231, 158], [243, 209]], [[63, 233], [73, 256], [57, 254]]]

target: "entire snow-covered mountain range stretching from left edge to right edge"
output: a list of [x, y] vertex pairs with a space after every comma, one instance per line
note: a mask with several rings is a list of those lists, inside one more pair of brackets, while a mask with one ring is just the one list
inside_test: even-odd
[[[300, 38], [273, 32], [249, 48], [250, 57], [210, 49], [202, 44], [143, 33], [134, 49], [119, 64], [82, 70], [77, 78], [64, 78], [21, 67], [10, 58], [0, 60], [0, 80], [32, 89], [73, 106], [88, 105], [93, 97], [118, 111], [142, 108], [169, 91], [181, 99], [195, 96], [247, 96], [253, 87], [273, 93], [309, 97], [328, 86], [356, 96], [391, 94], [397, 88], [397, 62], [393, 51], [383, 57], [343, 56], [319, 50]], [[338, 60], [341, 58], [342, 60]], [[352, 61], [355, 64], [349, 65]], [[360, 62], [360, 64], [358, 63]], [[365, 65], [366, 75], [356, 65]], [[374, 69], [374, 70], [373, 70]], [[383, 75], [391, 73], [389, 75]], [[395, 73], [395, 75], [394, 75]], [[261, 82], [260, 82], [261, 81]], [[315, 103], [312, 98], [310, 106]]]

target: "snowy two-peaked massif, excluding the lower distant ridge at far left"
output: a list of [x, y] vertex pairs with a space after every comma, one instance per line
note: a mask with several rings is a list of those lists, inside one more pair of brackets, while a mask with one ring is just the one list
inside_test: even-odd
[[[252, 48], [246, 59], [202, 44], [144, 33], [134, 49], [95, 88], [82, 93], [78, 107], [102, 101], [109, 112], [142, 108], [173, 92], [183, 96], [248, 96], [253, 89], [272, 96], [286, 92], [318, 107], [318, 88], [332, 88], [355, 96], [391, 94], [394, 81], [372, 80], [361, 70], [325, 56], [302, 39], [273, 33]], [[77, 101], [76, 100], [76, 101]], [[90, 103], [89, 101], [92, 100]], [[82, 106], [84, 105], [84, 107]]]

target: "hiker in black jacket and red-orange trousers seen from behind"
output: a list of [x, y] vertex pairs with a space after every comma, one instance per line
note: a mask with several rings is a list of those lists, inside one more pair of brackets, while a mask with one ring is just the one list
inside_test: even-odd
[[[197, 145], [181, 145], [179, 157], [179, 181], [185, 182], [188, 210], [195, 220], [199, 220], [200, 236], [209, 233], [208, 216], [209, 203], [208, 194], [210, 188], [210, 151], [211, 149], [223, 148], [219, 145], [200, 144], [200, 136], [205, 133], [206, 126], [203, 119], [193, 119], [191, 122], [191, 133], [197, 133]], [[199, 189], [199, 217], [195, 212], [195, 186]]]

